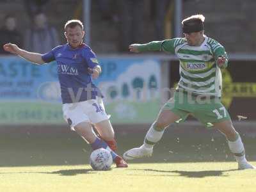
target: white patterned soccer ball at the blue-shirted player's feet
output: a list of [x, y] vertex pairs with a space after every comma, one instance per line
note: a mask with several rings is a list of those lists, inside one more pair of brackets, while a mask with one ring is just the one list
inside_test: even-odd
[[93, 150], [90, 156], [90, 165], [92, 166], [93, 170], [109, 170], [112, 163], [113, 159], [110, 152], [104, 148]]

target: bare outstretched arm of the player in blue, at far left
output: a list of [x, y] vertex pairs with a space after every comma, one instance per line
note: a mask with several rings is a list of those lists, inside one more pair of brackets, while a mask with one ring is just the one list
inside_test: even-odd
[[4, 51], [10, 52], [12, 54], [17, 54], [25, 60], [31, 61], [36, 64], [43, 64], [45, 61], [42, 60], [42, 54], [36, 52], [28, 52], [24, 49], [20, 49], [15, 44], [5, 44], [3, 45]]

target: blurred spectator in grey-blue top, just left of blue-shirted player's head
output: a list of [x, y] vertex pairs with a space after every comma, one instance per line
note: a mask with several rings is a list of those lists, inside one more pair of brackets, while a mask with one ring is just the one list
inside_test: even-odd
[[45, 53], [60, 45], [55, 28], [49, 26], [44, 13], [37, 13], [33, 26], [26, 31], [24, 47], [28, 51]]

